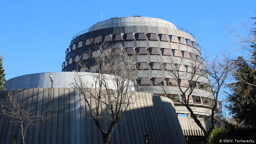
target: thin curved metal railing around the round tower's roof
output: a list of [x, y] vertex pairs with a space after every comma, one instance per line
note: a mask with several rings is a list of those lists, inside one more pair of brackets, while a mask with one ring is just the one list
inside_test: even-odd
[[109, 28], [109, 27], [117, 27], [117, 26], [161, 26], [161, 27], [166, 27], [166, 28], [170, 28], [170, 29], [176, 29], [176, 30], [183, 31], [185, 33], [192, 35], [192, 37], [195, 38], [194, 35], [187, 29], [184, 29], [182, 27], [177, 27], [172, 24], [157, 23], [157, 22], [120, 22], [120, 23], [102, 24], [99, 26], [90, 27], [89, 29], [86, 29], [86, 30], [82, 30], [79, 33], [75, 34], [74, 37], [71, 39], [71, 41], [74, 38], [78, 37], [79, 35], [87, 33], [88, 31], [100, 30], [100, 29], [105, 29], [105, 28]]

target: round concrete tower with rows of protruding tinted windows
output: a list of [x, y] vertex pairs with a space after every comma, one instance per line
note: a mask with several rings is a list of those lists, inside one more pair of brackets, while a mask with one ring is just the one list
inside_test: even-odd
[[[197, 83], [197, 86], [190, 102], [198, 117], [210, 114], [209, 107], [213, 99], [211, 87], [200, 46], [191, 32], [157, 18], [141, 16], [111, 18], [94, 24], [72, 38], [66, 50], [63, 71], [76, 71], [76, 61], [82, 60], [87, 63], [89, 71], [97, 72], [92, 60], [97, 53], [95, 45], [103, 42], [110, 45], [120, 42], [127, 49], [128, 55], [136, 57], [134, 63], [140, 77], [138, 84], [148, 87], [146, 92], [151, 94], [164, 96], [166, 92], [163, 88], [165, 88], [167, 94], [173, 98], [182, 99], [184, 96], [178, 90], [174, 76], [165, 71], [161, 65], [170, 69], [174, 68], [172, 65], [178, 65], [182, 75], [180, 82], [184, 86], [189, 83], [189, 74], [195, 65], [200, 65], [195, 76], [199, 79], [197, 82], [192, 81]], [[195, 65], [193, 65], [194, 61], [196, 61]], [[83, 68], [78, 70], [85, 71]], [[189, 117], [186, 107], [175, 101], [174, 106], [187, 140], [202, 139], [203, 131]], [[206, 123], [204, 125], [207, 127]]]

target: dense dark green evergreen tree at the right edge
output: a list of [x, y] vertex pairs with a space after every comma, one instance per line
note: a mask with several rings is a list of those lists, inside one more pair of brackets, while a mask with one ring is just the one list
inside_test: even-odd
[[256, 71], [242, 57], [234, 60], [236, 82], [230, 84], [229, 109], [238, 122], [249, 127], [256, 127]]

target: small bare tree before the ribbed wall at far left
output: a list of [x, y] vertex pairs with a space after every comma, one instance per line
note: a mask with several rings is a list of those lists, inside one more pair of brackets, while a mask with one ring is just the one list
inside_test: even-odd
[[22, 136], [22, 143], [25, 144], [25, 137], [27, 129], [30, 126], [35, 126], [40, 124], [41, 121], [45, 121], [52, 118], [53, 115], [50, 114], [52, 108], [41, 112], [35, 112], [34, 107], [29, 107], [26, 109], [24, 104], [17, 102], [14, 95], [8, 93], [8, 101], [1, 103], [1, 111], [5, 118], [9, 118], [12, 125], [16, 125], [20, 128], [20, 134]]

